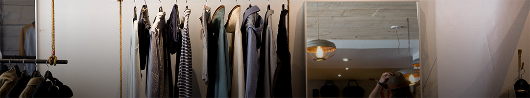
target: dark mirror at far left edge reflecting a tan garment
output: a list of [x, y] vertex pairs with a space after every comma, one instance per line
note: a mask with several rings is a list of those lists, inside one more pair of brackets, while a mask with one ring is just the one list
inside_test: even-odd
[[[0, 52], [2, 56], [5, 56], [3, 58], [35, 59], [35, 57], [23, 57], [37, 55], [35, 3], [35, 0], [0, 0], [0, 14], [2, 16], [0, 18], [2, 24], [0, 28]], [[9, 66], [10, 64], [2, 65]], [[11, 65], [13, 67], [17, 65], [17, 71], [28, 71], [28, 75], [31, 75], [36, 69], [34, 64]], [[7, 68], [11, 69], [11, 66]]]

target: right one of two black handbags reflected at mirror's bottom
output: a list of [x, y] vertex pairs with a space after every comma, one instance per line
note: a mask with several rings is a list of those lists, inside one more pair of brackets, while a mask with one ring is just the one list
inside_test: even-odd
[[364, 89], [363, 87], [359, 86], [359, 83], [355, 81], [357, 86], [350, 86], [350, 82], [355, 80], [350, 80], [348, 82], [348, 87], [344, 87], [344, 90], [342, 90], [342, 96], [343, 97], [364, 97]]

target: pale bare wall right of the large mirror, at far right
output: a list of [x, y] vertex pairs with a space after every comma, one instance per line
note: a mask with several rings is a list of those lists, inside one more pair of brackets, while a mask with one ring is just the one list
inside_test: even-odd
[[498, 96], [513, 68], [529, 6], [530, 1], [436, 1], [439, 97]]

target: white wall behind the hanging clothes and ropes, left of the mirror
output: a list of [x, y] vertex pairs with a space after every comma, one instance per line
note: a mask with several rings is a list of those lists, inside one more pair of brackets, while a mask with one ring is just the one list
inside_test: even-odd
[[[290, 51], [293, 58], [293, 96], [305, 97], [305, 37], [303, 34], [303, 2], [302, 0], [291, 0], [290, 2]], [[175, 1], [162, 0], [162, 6], [166, 13], [170, 13]], [[242, 13], [248, 6], [248, 1], [238, 1], [242, 5]], [[144, 1], [136, 1], [138, 9]], [[178, 1], [179, 13], [182, 15], [185, 1]], [[201, 5], [205, 1], [188, 0], [191, 9], [190, 15], [190, 38], [192, 44], [193, 58], [193, 97], [205, 97], [206, 85], [200, 79], [202, 75], [202, 42], [200, 40]], [[228, 17], [231, 8], [236, 5], [235, 1], [223, 1], [226, 15]], [[282, 1], [271, 0], [273, 14], [272, 30], [277, 30], [278, 19]], [[285, 1], [287, 7], [287, 1]], [[148, 0], [149, 18], [153, 20], [160, 3]], [[267, 1], [252, 1], [252, 5], [258, 5], [266, 13]], [[126, 0], [122, 4], [122, 60], [123, 60], [123, 95], [127, 90], [127, 61], [128, 47], [131, 30], [131, 18], [133, 18], [134, 3]], [[219, 6], [219, 1], [208, 1], [212, 12]], [[38, 30], [38, 55], [40, 59], [48, 58], [51, 51], [51, 0], [37, 1], [37, 25]], [[243, 14], [241, 14], [243, 15]], [[169, 15], [166, 15], [168, 18]], [[226, 20], [225, 20], [226, 21]], [[119, 3], [113, 0], [56, 0], [55, 1], [55, 46], [56, 55], [60, 60], [68, 60], [67, 65], [51, 66], [49, 70], [54, 76], [74, 91], [74, 97], [119, 97]], [[276, 33], [276, 32], [275, 32]], [[175, 57], [174, 55], [172, 57]], [[175, 64], [172, 61], [172, 65]], [[173, 66], [174, 67], [174, 66]], [[46, 70], [45, 65], [39, 66], [42, 74]], [[144, 75], [145, 76], [145, 75]], [[198, 80], [198, 81], [197, 81]], [[143, 82], [144, 83], [144, 82]], [[144, 84], [145, 85], [145, 84]]]

